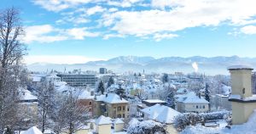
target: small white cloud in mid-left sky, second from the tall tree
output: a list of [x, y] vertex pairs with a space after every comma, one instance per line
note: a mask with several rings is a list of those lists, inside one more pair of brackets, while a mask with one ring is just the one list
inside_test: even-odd
[[73, 36], [74, 39], [84, 40], [85, 36], [95, 37], [99, 36], [99, 33], [86, 31], [87, 28], [73, 28], [67, 30], [68, 35]]

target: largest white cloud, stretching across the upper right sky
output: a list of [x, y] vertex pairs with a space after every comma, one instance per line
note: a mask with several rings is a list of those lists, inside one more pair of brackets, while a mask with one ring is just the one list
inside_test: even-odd
[[[160, 4], [166, 6], [166, 3]], [[119, 11], [103, 14], [102, 24], [123, 35], [147, 36], [189, 27], [218, 26], [222, 22], [242, 25], [256, 15], [256, 1], [173, 0], [169, 10]], [[253, 21], [254, 22], [254, 21]]]

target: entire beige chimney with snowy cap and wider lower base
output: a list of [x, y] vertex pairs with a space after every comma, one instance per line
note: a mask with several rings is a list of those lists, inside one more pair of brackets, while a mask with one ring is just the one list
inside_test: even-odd
[[232, 91], [232, 123], [235, 125], [247, 122], [256, 109], [256, 95], [252, 91], [252, 68], [245, 65], [235, 65], [228, 68], [231, 75]]

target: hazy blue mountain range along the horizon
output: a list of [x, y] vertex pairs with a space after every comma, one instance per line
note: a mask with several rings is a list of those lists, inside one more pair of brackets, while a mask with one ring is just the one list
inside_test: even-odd
[[181, 71], [183, 73], [191, 73], [195, 71], [192, 64], [198, 64], [198, 72], [206, 73], [207, 75], [229, 74], [227, 67], [234, 64], [248, 64], [256, 69], [256, 58], [240, 58], [238, 56], [232, 57], [166, 57], [154, 59], [153, 57], [137, 57], [137, 56], [120, 56], [108, 60], [90, 61], [84, 64], [47, 64], [35, 63], [27, 65], [32, 71], [46, 71], [46, 70], [98, 70], [105, 67], [114, 72], [143, 72], [146, 73], [174, 73]]

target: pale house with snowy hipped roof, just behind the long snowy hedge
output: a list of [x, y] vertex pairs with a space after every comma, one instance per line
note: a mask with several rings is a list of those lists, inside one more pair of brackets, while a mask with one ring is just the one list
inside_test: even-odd
[[177, 95], [177, 111], [181, 113], [202, 113], [209, 111], [209, 102], [205, 98], [198, 97], [195, 92]]

